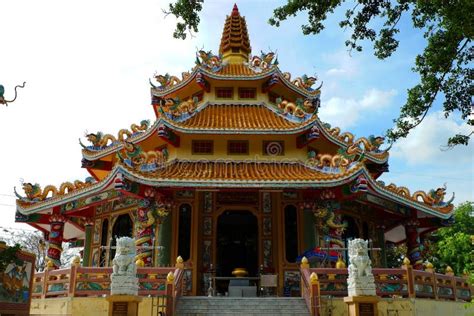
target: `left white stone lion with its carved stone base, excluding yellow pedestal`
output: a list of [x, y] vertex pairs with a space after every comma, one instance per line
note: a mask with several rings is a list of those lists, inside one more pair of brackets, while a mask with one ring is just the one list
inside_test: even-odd
[[117, 248], [110, 276], [111, 295], [138, 295], [137, 266], [135, 264], [135, 240], [130, 237], [117, 238]]

